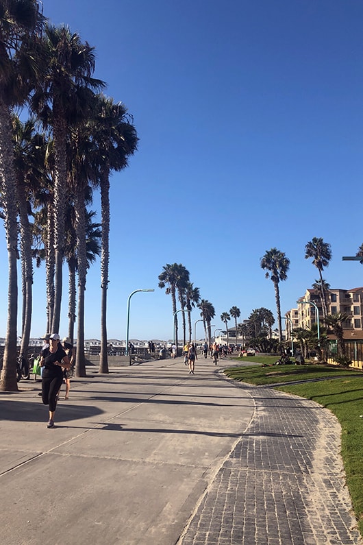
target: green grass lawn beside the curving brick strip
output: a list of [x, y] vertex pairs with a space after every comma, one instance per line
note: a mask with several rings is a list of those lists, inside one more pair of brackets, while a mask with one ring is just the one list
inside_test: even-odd
[[253, 385], [273, 384], [275, 389], [316, 401], [336, 415], [342, 426], [347, 486], [363, 536], [363, 373], [331, 365], [272, 365], [276, 360], [255, 356], [257, 365], [228, 367], [225, 374]]

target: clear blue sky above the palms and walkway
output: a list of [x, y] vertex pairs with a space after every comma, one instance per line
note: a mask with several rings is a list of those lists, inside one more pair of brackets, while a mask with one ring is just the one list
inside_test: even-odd
[[[111, 184], [108, 337], [171, 339], [171, 298], [158, 288], [182, 263], [220, 315], [241, 318], [275, 293], [260, 258], [290, 258], [281, 312], [318, 278], [305, 244], [323, 237], [331, 288], [363, 286], [342, 262], [363, 243], [363, 3], [361, 0], [43, 0], [97, 53], [95, 76], [134, 116], [140, 138]], [[95, 210], [99, 197], [95, 195]], [[5, 236], [0, 335], [8, 295]], [[66, 335], [64, 269], [61, 335]], [[34, 274], [32, 336], [45, 332], [44, 267]], [[19, 284], [20, 291], [20, 284]], [[88, 273], [86, 338], [100, 337], [99, 263]], [[19, 330], [21, 312], [19, 311]], [[192, 322], [200, 318], [192, 313]], [[231, 320], [231, 326], [233, 325]], [[197, 324], [197, 337], [203, 335]]]

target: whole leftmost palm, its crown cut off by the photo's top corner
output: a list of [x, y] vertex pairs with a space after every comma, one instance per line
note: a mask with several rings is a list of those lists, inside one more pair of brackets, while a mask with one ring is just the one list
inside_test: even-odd
[[[20, 9], [19, 9], [20, 8]], [[6, 328], [1, 374], [1, 390], [16, 391], [16, 322], [18, 314], [18, 282], [16, 270], [16, 175], [12, 147], [12, 106], [23, 104], [29, 84], [36, 73], [36, 60], [30, 47], [32, 38], [40, 32], [44, 19], [36, 0], [3, 0], [0, 28], [0, 184], [5, 216], [8, 248], [8, 324]]]

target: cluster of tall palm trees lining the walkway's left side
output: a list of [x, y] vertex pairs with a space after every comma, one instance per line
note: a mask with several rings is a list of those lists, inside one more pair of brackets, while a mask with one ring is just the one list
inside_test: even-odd
[[[68, 332], [73, 339], [77, 271], [75, 373], [85, 376], [86, 274], [92, 259], [101, 253], [99, 370], [108, 372], [110, 173], [127, 166], [137, 149], [138, 136], [127, 108], [105, 97], [105, 83], [93, 77], [94, 48], [68, 27], [51, 25], [40, 2], [0, 0], [0, 38], [0, 204], [9, 268], [0, 389], [13, 391], [17, 389], [18, 233], [23, 289], [21, 352], [27, 354], [32, 319], [32, 259], [36, 256], [37, 264], [45, 260], [47, 330], [51, 332], [59, 332], [66, 259], [70, 271]], [[26, 110], [18, 110], [23, 107]], [[31, 119], [23, 123], [16, 115], [19, 111], [30, 112]], [[96, 188], [101, 192], [101, 230], [88, 210]], [[100, 237], [101, 247], [97, 245]]]

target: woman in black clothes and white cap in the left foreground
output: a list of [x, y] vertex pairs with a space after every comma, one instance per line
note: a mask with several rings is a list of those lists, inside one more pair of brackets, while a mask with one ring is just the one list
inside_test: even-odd
[[42, 372], [42, 402], [49, 405], [49, 422], [47, 428], [54, 427], [54, 413], [57, 407], [57, 398], [63, 383], [63, 370], [71, 367], [69, 358], [60, 345], [60, 336], [53, 333], [49, 339], [50, 346], [42, 351], [40, 367]]

